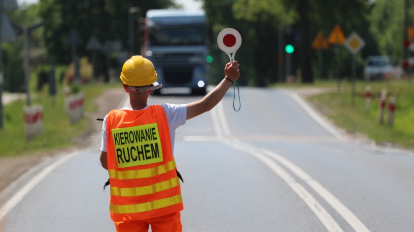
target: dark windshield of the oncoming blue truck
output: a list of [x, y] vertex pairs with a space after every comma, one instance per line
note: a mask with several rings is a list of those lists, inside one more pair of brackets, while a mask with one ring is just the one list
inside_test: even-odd
[[205, 44], [205, 28], [202, 26], [160, 27], [149, 29], [151, 45], [202, 45]]

